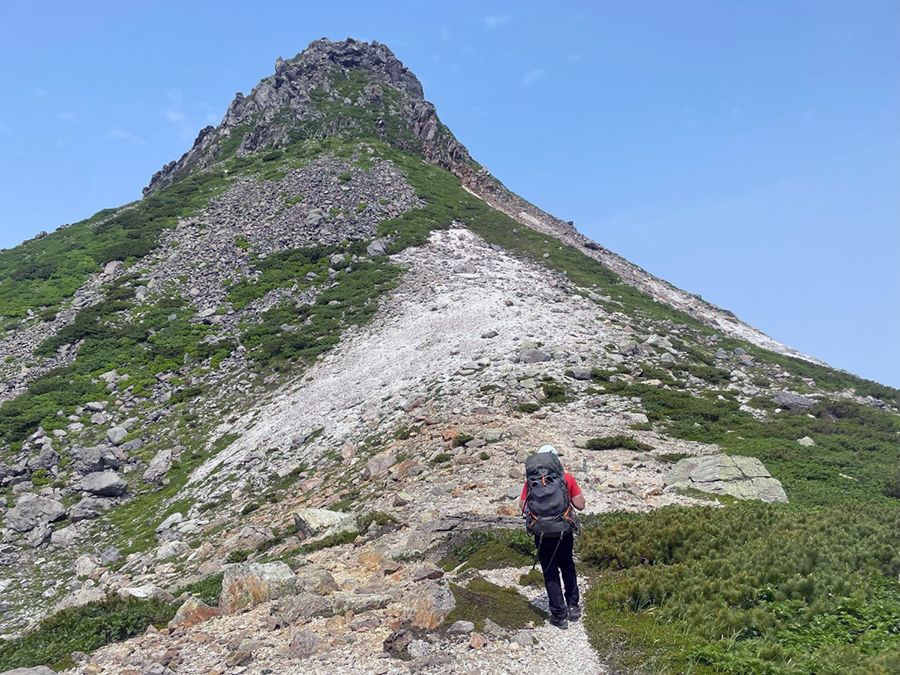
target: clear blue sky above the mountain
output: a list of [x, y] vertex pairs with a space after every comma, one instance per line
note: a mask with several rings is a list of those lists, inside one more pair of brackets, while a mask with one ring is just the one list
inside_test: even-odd
[[8, 3], [0, 246], [137, 199], [314, 39], [390, 46], [510, 188], [832, 365], [900, 385], [900, 5]]

